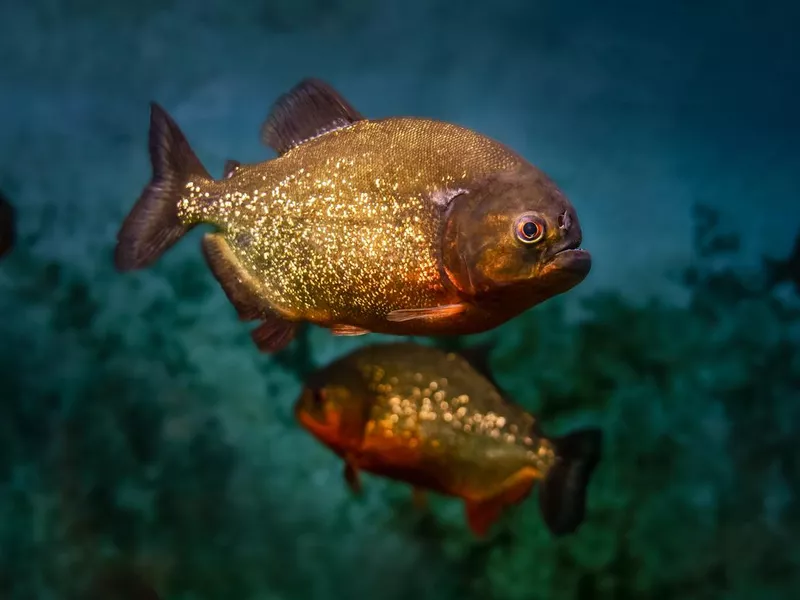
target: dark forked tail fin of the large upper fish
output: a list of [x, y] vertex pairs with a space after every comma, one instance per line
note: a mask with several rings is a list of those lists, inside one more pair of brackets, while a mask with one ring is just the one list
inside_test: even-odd
[[150, 162], [153, 176], [117, 234], [114, 264], [119, 271], [154, 263], [193, 226], [178, 216], [178, 202], [190, 182], [211, 181], [175, 121], [150, 104]]

